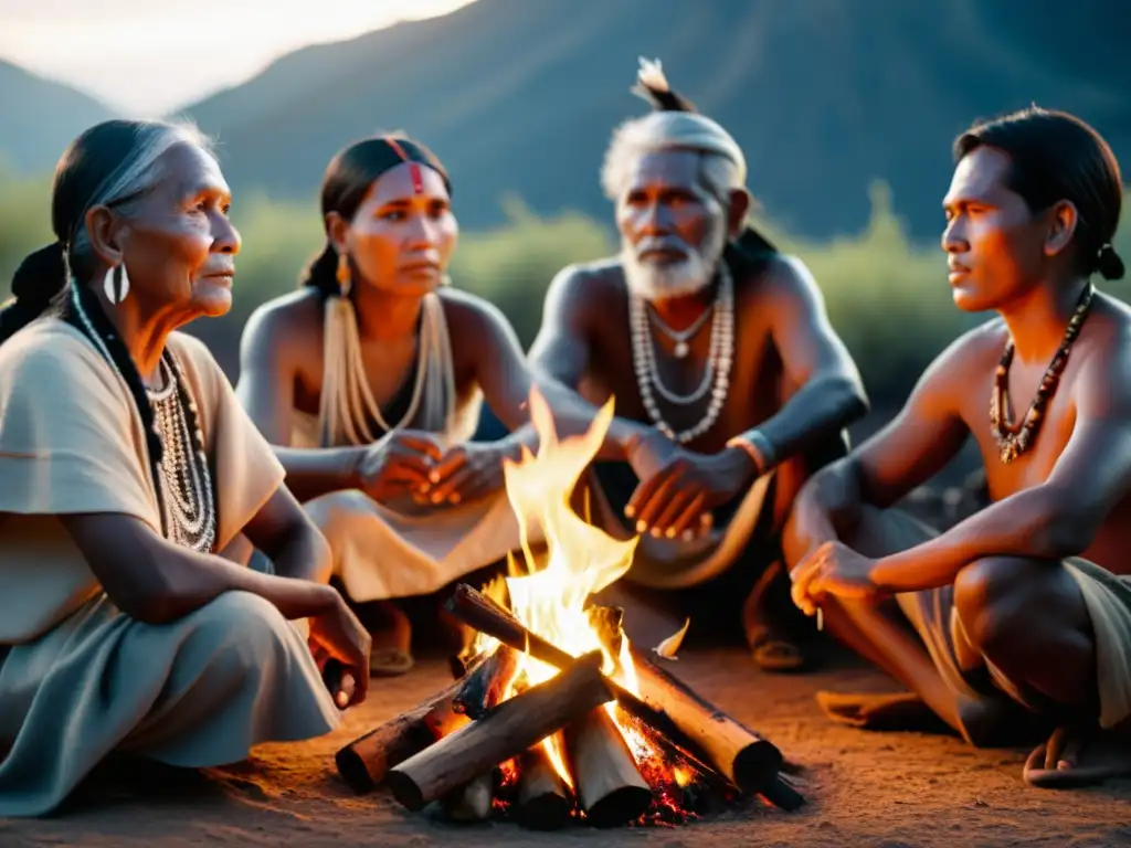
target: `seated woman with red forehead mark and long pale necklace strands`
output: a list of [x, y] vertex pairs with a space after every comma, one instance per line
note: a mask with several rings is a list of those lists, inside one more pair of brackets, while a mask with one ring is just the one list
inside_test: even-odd
[[[326, 248], [299, 292], [264, 305], [239, 396], [334, 551], [375, 631], [378, 674], [412, 667], [391, 602], [428, 595], [519, 547], [503, 459], [534, 447], [532, 379], [502, 313], [447, 287], [458, 226], [424, 146], [351, 145], [322, 182]], [[485, 399], [510, 431], [470, 442]]]

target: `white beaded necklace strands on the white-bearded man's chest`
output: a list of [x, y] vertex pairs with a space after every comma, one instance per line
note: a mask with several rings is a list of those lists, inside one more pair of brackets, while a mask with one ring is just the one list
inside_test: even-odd
[[[694, 441], [715, 426], [715, 422], [723, 410], [723, 405], [726, 403], [726, 392], [731, 384], [731, 365], [734, 361], [734, 283], [725, 263], [719, 265], [718, 291], [715, 294], [715, 303], [708, 308], [708, 311], [710, 310], [714, 310], [710, 327], [710, 353], [707, 356], [707, 364], [703, 366], [702, 380], [691, 393], [680, 395], [665, 386], [659, 375], [659, 367], [656, 364], [656, 344], [649, 326], [648, 303], [639, 295], [629, 295], [632, 361], [636, 367], [640, 400], [656, 429], [680, 444]], [[679, 339], [676, 341], [679, 343]], [[698, 424], [676, 432], [664, 421], [656, 404], [654, 389], [664, 400], [674, 406], [698, 404], [708, 391], [710, 391], [710, 401]]]

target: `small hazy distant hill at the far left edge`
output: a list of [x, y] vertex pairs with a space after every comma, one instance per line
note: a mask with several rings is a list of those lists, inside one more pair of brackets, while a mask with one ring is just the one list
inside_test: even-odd
[[0, 60], [0, 164], [17, 173], [50, 171], [78, 133], [111, 118], [94, 97]]

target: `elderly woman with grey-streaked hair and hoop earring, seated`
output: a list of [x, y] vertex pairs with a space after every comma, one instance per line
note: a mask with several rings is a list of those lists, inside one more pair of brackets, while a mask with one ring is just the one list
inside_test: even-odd
[[[325, 539], [175, 331], [231, 305], [228, 194], [191, 129], [87, 130], [55, 172], [57, 242], [0, 313], [0, 817], [52, 811], [112, 751], [234, 762], [365, 695]], [[223, 556], [239, 534], [274, 574]]]

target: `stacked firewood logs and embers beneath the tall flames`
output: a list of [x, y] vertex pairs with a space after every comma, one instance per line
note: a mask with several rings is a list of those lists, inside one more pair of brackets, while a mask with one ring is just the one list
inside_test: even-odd
[[337, 753], [355, 791], [385, 787], [409, 811], [539, 830], [804, 803], [782, 752], [630, 644], [620, 611], [586, 611], [602, 650], [579, 657], [469, 586], [448, 611], [486, 649], [454, 659], [449, 687]]

